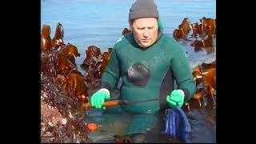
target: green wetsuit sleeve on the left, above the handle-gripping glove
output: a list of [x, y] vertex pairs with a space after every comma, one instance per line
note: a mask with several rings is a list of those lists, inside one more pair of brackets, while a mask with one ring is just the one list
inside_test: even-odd
[[112, 54], [110, 56], [110, 62], [102, 75], [101, 88], [106, 88], [107, 90], [114, 90], [120, 78], [120, 65], [118, 61], [117, 50], [114, 46]]

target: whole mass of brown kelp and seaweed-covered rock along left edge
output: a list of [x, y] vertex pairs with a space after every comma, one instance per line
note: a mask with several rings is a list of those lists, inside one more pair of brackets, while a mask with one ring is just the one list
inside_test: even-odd
[[[42, 142], [90, 142], [81, 111], [88, 102], [85, 79], [68, 56], [78, 56], [75, 46], [63, 43], [60, 23], [50, 47], [50, 26], [41, 39], [41, 139]], [[58, 47], [61, 46], [61, 50]]]

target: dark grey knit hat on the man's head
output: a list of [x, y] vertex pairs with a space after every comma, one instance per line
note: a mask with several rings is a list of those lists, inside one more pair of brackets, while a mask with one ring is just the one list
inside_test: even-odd
[[137, 18], [159, 18], [154, 0], [137, 0], [130, 7], [129, 20]]

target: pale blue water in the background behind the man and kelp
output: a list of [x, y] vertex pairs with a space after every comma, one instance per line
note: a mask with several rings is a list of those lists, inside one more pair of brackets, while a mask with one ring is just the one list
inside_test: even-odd
[[[76, 58], [76, 62], [82, 64], [88, 46], [98, 46], [102, 51], [107, 51], [122, 36], [122, 30], [129, 28], [128, 13], [133, 2], [134, 0], [44, 0], [41, 1], [41, 27], [49, 25], [53, 38], [57, 23], [61, 22], [64, 27], [64, 42], [78, 47], [81, 57]], [[189, 18], [191, 23], [200, 22], [202, 17], [216, 18], [215, 0], [155, 2], [165, 27], [164, 33], [170, 36], [183, 18]], [[204, 51], [194, 52], [189, 43], [183, 48], [188, 52], [191, 68], [202, 62], [212, 62], [216, 58], [216, 53], [207, 55]]]

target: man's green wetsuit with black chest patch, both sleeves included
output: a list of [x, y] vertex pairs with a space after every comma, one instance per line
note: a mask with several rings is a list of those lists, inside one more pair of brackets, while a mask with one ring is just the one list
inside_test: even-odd
[[[121, 77], [121, 99], [138, 102], [122, 106], [122, 110], [134, 114], [128, 134], [143, 133], [154, 127], [159, 119], [158, 111], [168, 108], [166, 96], [174, 90], [174, 80], [178, 89], [184, 91], [185, 102], [195, 93], [195, 82], [181, 46], [166, 34], [158, 35], [157, 42], [147, 49], [138, 46], [133, 34], [120, 38], [102, 76], [102, 88], [110, 92]], [[159, 98], [162, 100], [140, 103]]]

